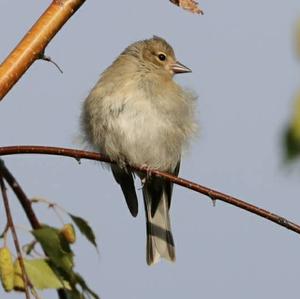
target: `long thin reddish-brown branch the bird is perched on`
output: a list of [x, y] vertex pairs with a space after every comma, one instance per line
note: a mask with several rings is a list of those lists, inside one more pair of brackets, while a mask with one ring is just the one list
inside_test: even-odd
[[[80, 159], [89, 159], [89, 160], [97, 160], [107, 163], [114, 163], [108, 157], [95, 153], [95, 152], [87, 152], [69, 148], [59, 148], [59, 147], [48, 147], [48, 146], [8, 146], [8, 147], [0, 147], [0, 156], [6, 155], [15, 155], [15, 154], [46, 154], [46, 155], [58, 155], [58, 156], [66, 156], [75, 158], [77, 161]], [[249, 204], [245, 201], [232, 197], [230, 195], [221, 193], [219, 191], [204, 187], [202, 185], [193, 183], [191, 181], [175, 177], [171, 174], [164, 173], [159, 170], [149, 170], [147, 167], [131, 167], [135, 171], [148, 172], [151, 175], [163, 177], [177, 185], [183, 186], [185, 188], [194, 190], [198, 193], [202, 193], [204, 195], [209, 196], [213, 200], [221, 200], [233, 206], [236, 206], [240, 209], [249, 211], [250, 213], [256, 214], [260, 217], [266, 218], [278, 225], [284, 226], [285, 228], [292, 230], [298, 234], [300, 234], [300, 226], [279, 216], [273, 214], [267, 210], [256, 207], [252, 204]]]

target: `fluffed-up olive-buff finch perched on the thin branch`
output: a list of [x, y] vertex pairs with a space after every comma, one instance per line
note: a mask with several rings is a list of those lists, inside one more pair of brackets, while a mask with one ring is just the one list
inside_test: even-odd
[[183, 151], [197, 132], [197, 96], [174, 80], [191, 69], [176, 60], [172, 46], [153, 36], [130, 44], [103, 71], [84, 100], [85, 141], [107, 155], [132, 216], [138, 214], [135, 177], [141, 179], [146, 215], [146, 261], [175, 261], [169, 209], [173, 183], [130, 166], [179, 173]]

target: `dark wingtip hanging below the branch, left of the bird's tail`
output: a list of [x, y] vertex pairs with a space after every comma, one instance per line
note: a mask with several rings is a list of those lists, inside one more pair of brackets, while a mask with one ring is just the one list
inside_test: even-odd
[[121, 186], [128, 209], [133, 217], [138, 214], [138, 200], [135, 192], [132, 172], [118, 165], [111, 165], [115, 180]]

